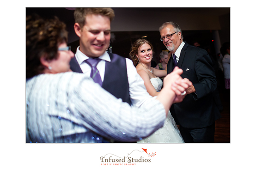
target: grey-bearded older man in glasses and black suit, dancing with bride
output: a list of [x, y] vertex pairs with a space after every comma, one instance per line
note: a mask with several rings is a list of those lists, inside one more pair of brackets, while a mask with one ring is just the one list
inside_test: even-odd
[[187, 143], [214, 143], [215, 120], [221, 115], [215, 100], [217, 81], [211, 58], [204, 49], [183, 41], [177, 23], [164, 23], [159, 31], [160, 40], [170, 51], [167, 73], [178, 66], [183, 69], [181, 77], [193, 83], [183, 102], [170, 109], [183, 139]]

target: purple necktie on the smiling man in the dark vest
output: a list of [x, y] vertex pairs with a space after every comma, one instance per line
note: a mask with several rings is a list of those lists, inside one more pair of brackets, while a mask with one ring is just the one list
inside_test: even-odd
[[99, 70], [96, 68], [97, 64], [100, 62], [101, 59], [99, 58], [89, 58], [85, 60], [87, 64], [89, 64], [92, 68], [90, 77], [94, 80], [94, 82], [99, 83], [100, 86], [102, 86], [102, 79], [99, 74]]

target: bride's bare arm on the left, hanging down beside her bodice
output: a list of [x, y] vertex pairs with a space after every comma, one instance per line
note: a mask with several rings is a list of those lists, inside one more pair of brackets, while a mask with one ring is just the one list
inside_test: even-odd
[[152, 85], [148, 73], [145, 70], [139, 70], [137, 72], [140, 75], [140, 77], [143, 79], [144, 85], [147, 89], [148, 94], [150, 96], [157, 96], [159, 92], [157, 92], [154, 86]]

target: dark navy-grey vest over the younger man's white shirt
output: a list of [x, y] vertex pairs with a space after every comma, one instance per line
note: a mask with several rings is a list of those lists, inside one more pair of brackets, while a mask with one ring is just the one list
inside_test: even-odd
[[[125, 57], [112, 53], [108, 54], [111, 62], [106, 61], [102, 88], [116, 96], [116, 98], [121, 98], [123, 102], [127, 102], [131, 105]], [[76, 57], [71, 59], [70, 69], [74, 72], [83, 73]]]

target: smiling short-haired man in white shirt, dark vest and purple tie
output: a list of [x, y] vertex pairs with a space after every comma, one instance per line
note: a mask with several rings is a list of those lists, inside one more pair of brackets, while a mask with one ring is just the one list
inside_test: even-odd
[[72, 71], [90, 77], [92, 66], [87, 59], [99, 59], [96, 68], [102, 88], [121, 98], [123, 102], [139, 107], [148, 98], [143, 79], [133, 62], [117, 54], [108, 53], [111, 38], [112, 8], [76, 8], [74, 29], [79, 36], [79, 47], [70, 61]]

